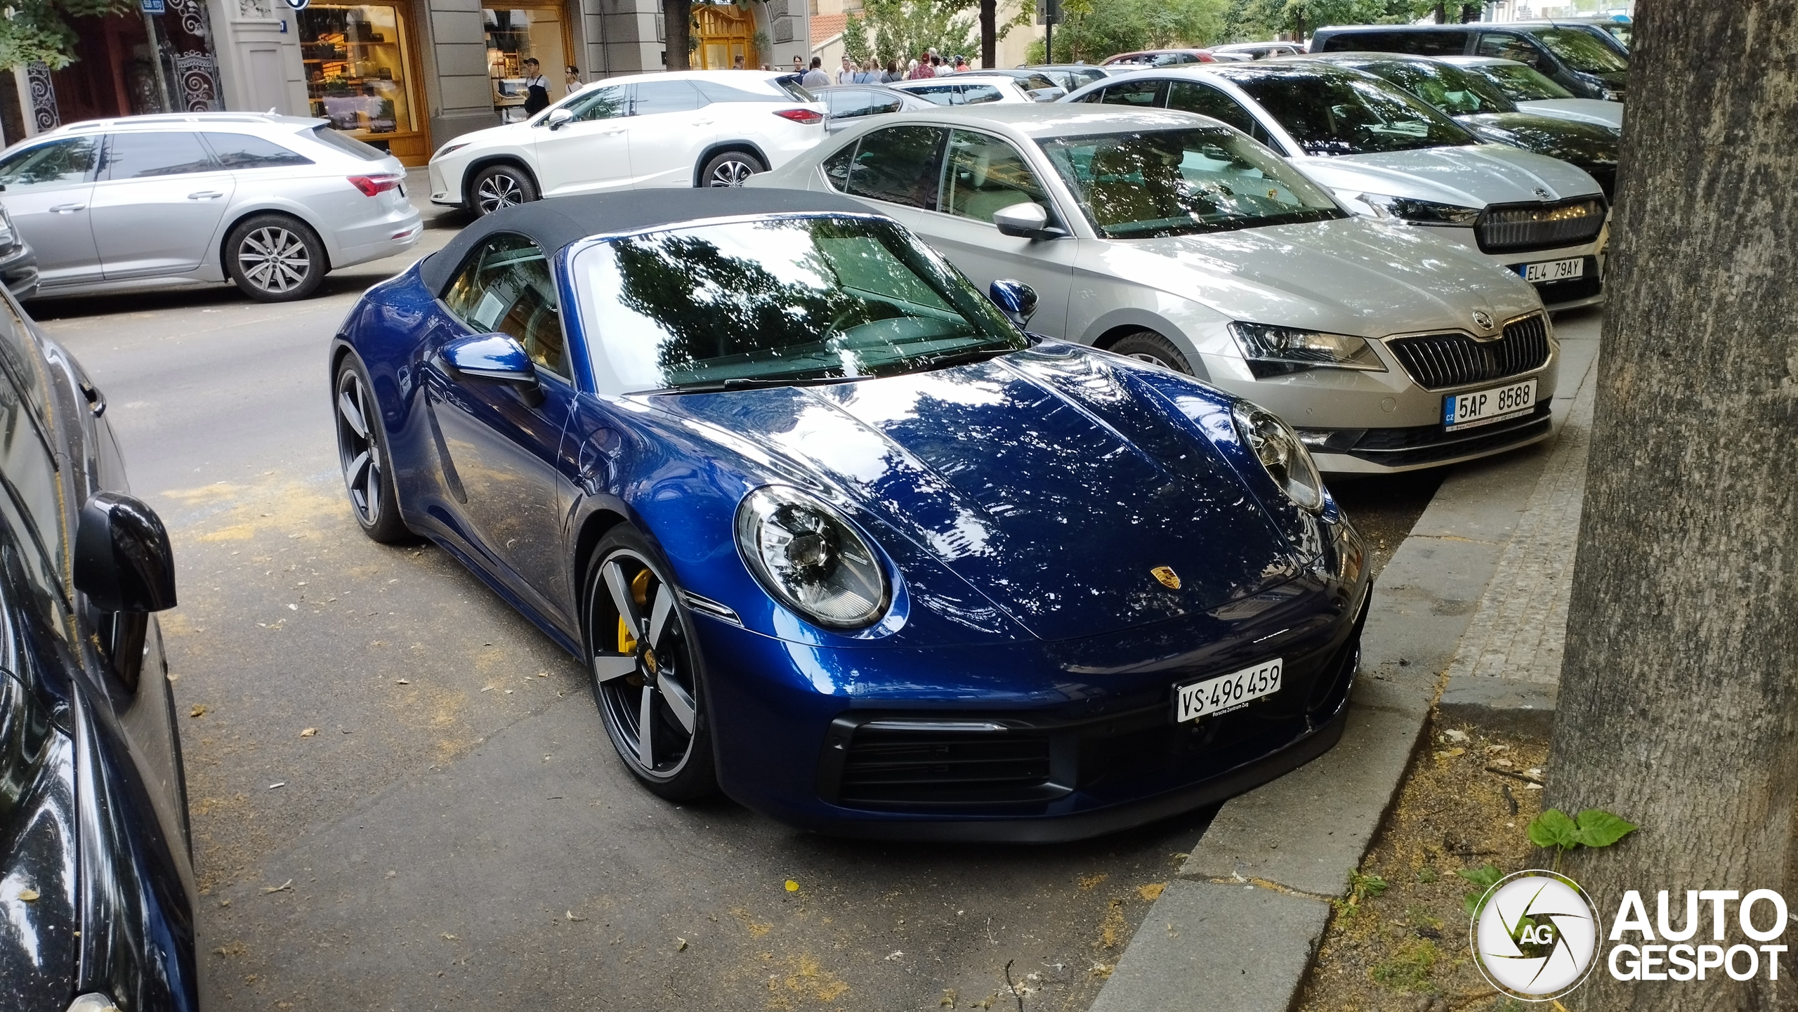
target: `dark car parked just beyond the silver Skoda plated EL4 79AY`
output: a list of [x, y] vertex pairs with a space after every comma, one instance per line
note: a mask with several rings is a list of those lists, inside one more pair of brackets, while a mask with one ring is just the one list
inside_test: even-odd
[[[1595, 122], [1577, 122], [1564, 117], [1541, 115], [1518, 108], [1500, 88], [1473, 70], [1455, 67], [1428, 56], [1397, 52], [1331, 52], [1307, 56], [1338, 67], [1354, 67], [1384, 77], [1455, 122], [1465, 126], [1480, 140], [1509, 144], [1570, 165], [1586, 169], [1598, 182], [1606, 200], [1616, 194], [1616, 149], [1624, 131]], [[1622, 108], [1609, 102], [1611, 108]]]

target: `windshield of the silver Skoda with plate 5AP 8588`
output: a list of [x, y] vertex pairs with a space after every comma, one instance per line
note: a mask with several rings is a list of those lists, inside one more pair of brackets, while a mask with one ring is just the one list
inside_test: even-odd
[[1224, 128], [1037, 140], [1093, 228], [1151, 239], [1345, 217], [1327, 192]]

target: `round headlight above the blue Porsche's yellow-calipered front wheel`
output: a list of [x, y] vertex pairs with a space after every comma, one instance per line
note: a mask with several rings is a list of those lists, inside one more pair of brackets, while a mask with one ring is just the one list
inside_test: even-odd
[[892, 599], [867, 539], [838, 512], [791, 487], [764, 485], [737, 507], [737, 550], [780, 604], [818, 626], [859, 629]]

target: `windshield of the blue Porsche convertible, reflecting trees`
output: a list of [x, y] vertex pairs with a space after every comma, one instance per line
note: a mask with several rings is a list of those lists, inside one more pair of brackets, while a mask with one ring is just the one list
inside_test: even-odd
[[876, 217], [631, 235], [590, 246], [574, 273], [601, 386], [620, 392], [895, 376], [1028, 343], [937, 253]]

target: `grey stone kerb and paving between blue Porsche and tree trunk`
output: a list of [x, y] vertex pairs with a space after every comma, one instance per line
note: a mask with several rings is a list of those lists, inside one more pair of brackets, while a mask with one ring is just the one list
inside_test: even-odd
[[[1552, 721], [1571, 552], [1543, 552], [1539, 541], [1564, 543], [1557, 525], [1566, 523], [1577, 536], [1598, 315], [1557, 322], [1557, 437], [1449, 473], [1379, 575], [1341, 742], [1224, 802], [1093, 1012], [1286, 1012], [1329, 924], [1329, 901], [1343, 895], [1397, 796], [1444, 676], [1444, 712], [1523, 732]], [[1519, 620], [1534, 622], [1528, 636], [1518, 635]], [[1535, 661], [1550, 652], [1544, 678]]]

